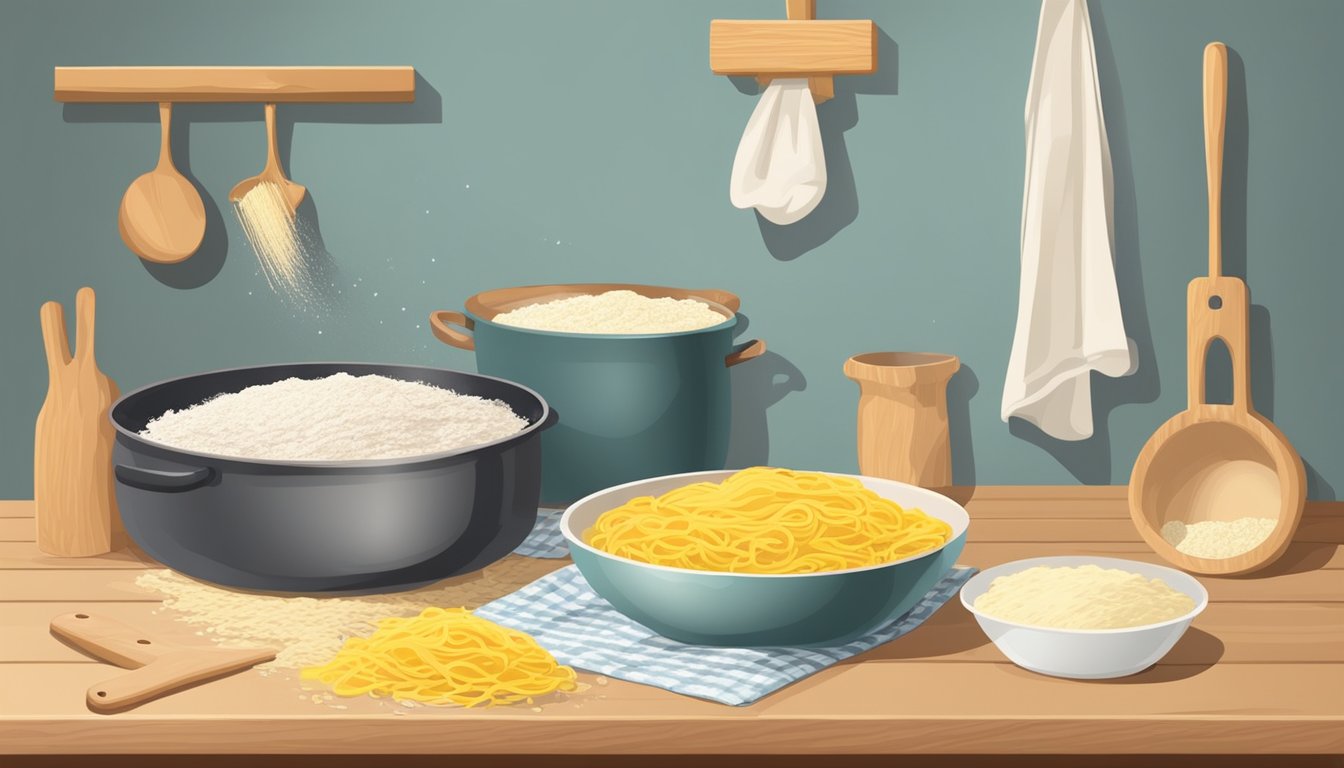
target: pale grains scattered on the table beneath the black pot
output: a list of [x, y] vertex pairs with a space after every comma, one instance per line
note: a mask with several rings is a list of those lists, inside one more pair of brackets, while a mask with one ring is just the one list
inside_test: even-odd
[[300, 670], [325, 664], [348, 638], [368, 635], [390, 616], [415, 616], [426, 608], [477, 608], [530, 584], [554, 565], [509, 557], [482, 570], [433, 588], [391, 594], [297, 597], [233, 592], [172, 570], [146, 570], [136, 585], [164, 597], [164, 608], [198, 633], [230, 648], [271, 647], [274, 662], [261, 668]]

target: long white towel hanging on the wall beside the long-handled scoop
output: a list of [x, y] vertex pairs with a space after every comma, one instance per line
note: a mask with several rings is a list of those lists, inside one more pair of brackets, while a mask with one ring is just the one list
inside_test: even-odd
[[1093, 434], [1091, 371], [1133, 373], [1116, 288], [1111, 168], [1086, 0], [1044, 0], [1027, 89], [1017, 331], [1003, 420]]

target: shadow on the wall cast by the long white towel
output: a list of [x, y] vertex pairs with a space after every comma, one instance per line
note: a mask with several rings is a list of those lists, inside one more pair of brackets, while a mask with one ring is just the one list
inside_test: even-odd
[[[1134, 192], [1129, 130], [1125, 124], [1125, 94], [1121, 90], [1116, 56], [1106, 34], [1106, 19], [1101, 5], [1089, 5], [1089, 13], [1091, 15], [1093, 40], [1097, 48], [1097, 77], [1101, 85], [1102, 108], [1106, 113], [1106, 136], [1110, 141], [1114, 183], [1116, 286], [1120, 292], [1125, 332], [1132, 342], [1129, 351], [1130, 359], [1134, 362], [1134, 371], [1122, 378], [1093, 374], [1094, 430], [1087, 440], [1055, 440], [1034, 424], [1020, 418], [1008, 422], [1008, 432], [1054, 456], [1078, 482], [1107, 484], [1114, 482], [1110, 455], [1110, 412], [1125, 404], [1156, 401], [1161, 393], [1161, 381], [1157, 371], [1157, 358], [1153, 352], [1153, 334], [1148, 324], [1148, 301], [1144, 297], [1144, 273], [1138, 252], [1138, 203]], [[1023, 97], [1025, 98], [1025, 91]], [[1228, 112], [1230, 124], [1231, 117], [1232, 114]], [[1228, 141], [1231, 141], [1231, 133], [1230, 126]], [[1245, 160], [1243, 152], [1241, 157], [1243, 178]]]

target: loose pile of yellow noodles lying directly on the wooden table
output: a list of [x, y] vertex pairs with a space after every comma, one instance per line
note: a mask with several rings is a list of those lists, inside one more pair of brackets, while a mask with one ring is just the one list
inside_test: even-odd
[[383, 619], [368, 638], [351, 638], [304, 679], [337, 695], [392, 697], [435, 705], [531, 702], [578, 686], [532, 636], [462, 608], [426, 608], [419, 616]]

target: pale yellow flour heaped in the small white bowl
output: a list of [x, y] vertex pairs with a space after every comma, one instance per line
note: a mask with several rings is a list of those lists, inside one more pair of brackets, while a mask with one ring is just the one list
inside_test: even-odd
[[974, 605], [986, 616], [1030, 627], [1118, 629], [1177, 619], [1195, 600], [1160, 578], [1118, 568], [1040, 565], [993, 580]]

